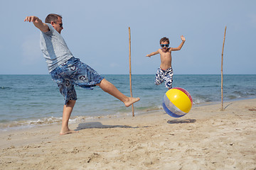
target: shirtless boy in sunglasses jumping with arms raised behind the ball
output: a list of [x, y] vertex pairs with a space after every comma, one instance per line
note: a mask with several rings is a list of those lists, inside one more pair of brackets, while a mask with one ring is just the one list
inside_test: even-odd
[[152, 52], [149, 55], [146, 55], [146, 57], [151, 57], [152, 55], [160, 54], [161, 58], [161, 64], [159, 69], [157, 69], [156, 72], [156, 79], [155, 84], [159, 85], [165, 81], [165, 86], [168, 89], [171, 89], [172, 87], [172, 79], [173, 79], [173, 69], [171, 68], [171, 52], [172, 51], [178, 51], [181, 50], [181, 47], [183, 46], [185, 42], [185, 38], [183, 35], [181, 35], [181, 45], [178, 47], [169, 47], [170, 41], [169, 38], [161, 38], [160, 45], [161, 49], [157, 50], [156, 52]]

